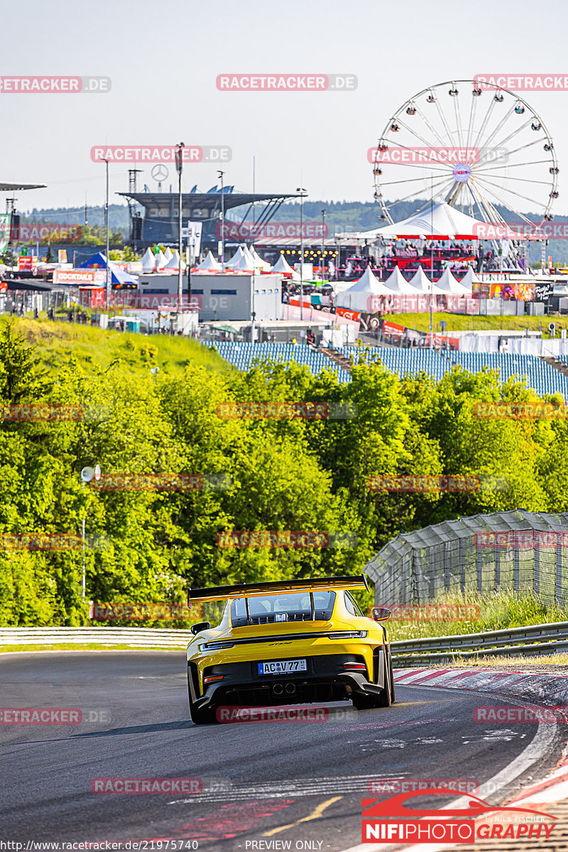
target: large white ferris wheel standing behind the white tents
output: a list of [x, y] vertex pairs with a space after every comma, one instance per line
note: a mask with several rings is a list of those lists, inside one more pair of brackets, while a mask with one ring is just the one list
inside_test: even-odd
[[534, 109], [490, 83], [423, 89], [393, 113], [371, 149], [381, 219], [401, 201], [435, 199], [484, 222], [553, 219], [559, 167]]

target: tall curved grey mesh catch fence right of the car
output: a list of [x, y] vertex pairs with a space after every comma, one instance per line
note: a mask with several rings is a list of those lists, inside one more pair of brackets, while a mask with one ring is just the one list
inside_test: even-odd
[[534, 593], [561, 605], [568, 602], [568, 514], [516, 509], [400, 533], [365, 572], [377, 605], [496, 590]]

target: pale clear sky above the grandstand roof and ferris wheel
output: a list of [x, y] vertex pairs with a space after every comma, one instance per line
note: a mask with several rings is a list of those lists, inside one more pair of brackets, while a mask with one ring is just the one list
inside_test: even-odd
[[[3, 9], [3, 75], [99, 75], [109, 94], [0, 93], [0, 180], [43, 182], [15, 193], [20, 210], [104, 202], [94, 145], [231, 147], [226, 182], [311, 199], [372, 200], [367, 150], [393, 112], [433, 83], [476, 73], [562, 73], [568, 5], [527, 0], [20, 0]], [[222, 92], [221, 73], [350, 73], [348, 92]], [[557, 213], [568, 213], [568, 91], [525, 93], [554, 136]], [[141, 183], [155, 190], [149, 167]], [[127, 165], [110, 168], [111, 201]], [[175, 182], [170, 167], [169, 182]], [[183, 185], [215, 184], [188, 164]], [[3, 193], [4, 196], [6, 193]], [[0, 196], [0, 210], [4, 209]]]

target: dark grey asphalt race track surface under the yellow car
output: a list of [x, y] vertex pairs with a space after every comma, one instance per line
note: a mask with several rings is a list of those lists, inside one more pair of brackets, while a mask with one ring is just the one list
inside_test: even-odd
[[[333, 705], [348, 712], [325, 722], [195, 727], [183, 652], [4, 653], [0, 694], [2, 708], [83, 715], [0, 726], [0, 840], [20, 843], [153, 839], [141, 849], [159, 849], [169, 838], [184, 842], [177, 849], [339, 852], [361, 842], [361, 798], [379, 797], [372, 780], [499, 774], [485, 798], [502, 802], [554, 768], [562, 741], [554, 723], [473, 721], [477, 705], [519, 701], [402, 686], [390, 708]], [[91, 792], [97, 778], [172, 777], [201, 779], [203, 792]]]

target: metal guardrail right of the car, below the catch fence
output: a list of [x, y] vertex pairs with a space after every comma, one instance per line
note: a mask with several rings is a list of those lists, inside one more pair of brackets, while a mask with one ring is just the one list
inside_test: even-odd
[[425, 639], [391, 642], [393, 663], [398, 667], [445, 663], [457, 655], [475, 657], [539, 656], [568, 651], [568, 621], [549, 625], [488, 630], [458, 636], [428, 636]]

